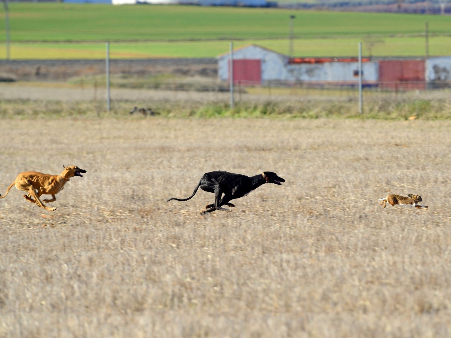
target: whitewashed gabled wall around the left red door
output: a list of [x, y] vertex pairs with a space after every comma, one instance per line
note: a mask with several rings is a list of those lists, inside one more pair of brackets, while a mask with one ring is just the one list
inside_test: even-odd
[[[262, 81], [281, 80], [288, 77], [286, 64], [288, 57], [265, 48], [250, 45], [233, 52], [234, 59], [259, 59], [262, 61]], [[218, 76], [221, 80], [229, 79], [230, 53], [218, 57]]]

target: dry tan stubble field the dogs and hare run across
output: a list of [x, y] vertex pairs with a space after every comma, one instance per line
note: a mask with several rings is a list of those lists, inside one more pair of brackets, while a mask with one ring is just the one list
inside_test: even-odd
[[[0, 193], [86, 169], [51, 205], [0, 200], [1, 337], [451, 335], [449, 121], [5, 119]], [[199, 215], [203, 173], [275, 171]], [[429, 210], [391, 207], [387, 193]]]

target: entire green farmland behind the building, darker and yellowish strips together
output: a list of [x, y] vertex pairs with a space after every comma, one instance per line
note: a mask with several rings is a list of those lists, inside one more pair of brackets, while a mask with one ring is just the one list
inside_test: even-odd
[[[430, 55], [447, 55], [448, 16], [294, 11], [198, 6], [10, 4], [12, 59], [215, 57], [257, 43], [288, 52], [288, 16], [295, 14], [296, 56], [348, 56], [364, 41], [364, 55], [423, 56], [429, 21]], [[0, 58], [5, 58], [5, 20], [0, 12]], [[370, 51], [367, 37], [379, 40]], [[30, 43], [29, 41], [35, 41]], [[75, 41], [83, 41], [75, 43]], [[70, 43], [69, 43], [70, 42]]]

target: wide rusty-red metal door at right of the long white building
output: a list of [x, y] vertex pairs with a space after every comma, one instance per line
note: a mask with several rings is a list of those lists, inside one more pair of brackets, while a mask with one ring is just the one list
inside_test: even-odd
[[384, 89], [425, 89], [423, 60], [379, 61], [380, 87]]

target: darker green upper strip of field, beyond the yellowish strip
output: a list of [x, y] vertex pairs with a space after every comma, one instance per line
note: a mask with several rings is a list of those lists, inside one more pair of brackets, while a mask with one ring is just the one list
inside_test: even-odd
[[[288, 35], [296, 14], [295, 35], [349, 37], [420, 34], [429, 20], [432, 34], [449, 34], [448, 16], [293, 11], [198, 6], [110, 6], [11, 4], [13, 41], [136, 41], [262, 39]], [[0, 22], [0, 39], [5, 39]]]

